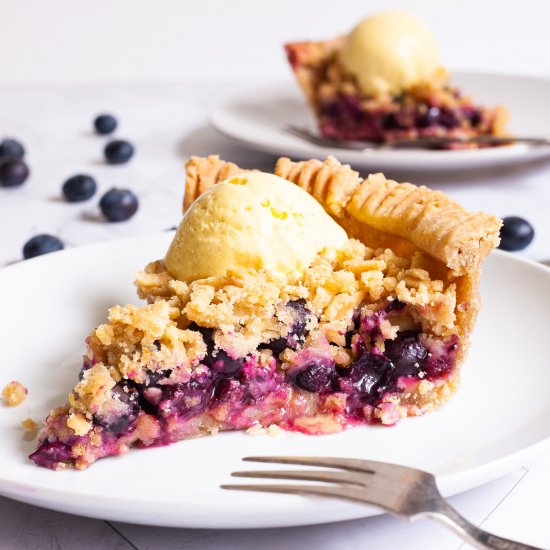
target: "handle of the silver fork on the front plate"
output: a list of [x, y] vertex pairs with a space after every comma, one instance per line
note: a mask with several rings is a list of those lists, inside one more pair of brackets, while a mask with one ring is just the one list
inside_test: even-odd
[[429, 517], [450, 527], [466, 542], [475, 548], [482, 550], [541, 550], [536, 546], [529, 546], [521, 542], [505, 539], [488, 533], [483, 529], [470, 523], [466, 518], [463, 518], [447, 501], [441, 499], [438, 503], [437, 511], [429, 512]]

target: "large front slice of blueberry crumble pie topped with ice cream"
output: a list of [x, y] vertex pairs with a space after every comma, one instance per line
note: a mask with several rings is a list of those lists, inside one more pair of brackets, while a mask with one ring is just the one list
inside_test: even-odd
[[89, 336], [38, 465], [219, 430], [392, 425], [455, 392], [497, 218], [332, 157], [281, 158], [275, 175], [192, 158], [185, 208], [137, 275], [147, 304]]

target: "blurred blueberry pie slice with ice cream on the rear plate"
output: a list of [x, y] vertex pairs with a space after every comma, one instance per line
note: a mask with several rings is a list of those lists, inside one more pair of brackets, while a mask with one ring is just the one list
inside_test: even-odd
[[389, 142], [507, 135], [507, 110], [462, 95], [439, 64], [432, 33], [407, 13], [382, 12], [346, 36], [285, 49], [323, 136]]

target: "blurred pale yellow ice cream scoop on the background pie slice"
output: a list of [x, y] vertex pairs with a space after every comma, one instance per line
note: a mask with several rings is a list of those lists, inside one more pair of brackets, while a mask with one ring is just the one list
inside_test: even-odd
[[398, 94], [437, 71], [439, 52], [434, 35], [420, 19], [384, 11], [349, 33], [341, 62], [365, 94]]

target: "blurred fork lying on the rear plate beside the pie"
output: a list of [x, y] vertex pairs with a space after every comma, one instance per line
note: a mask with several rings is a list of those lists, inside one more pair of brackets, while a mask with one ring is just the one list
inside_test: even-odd
[[353, 139], [333, 139], [320, 136], [319, 134], [288, 124], [284, 130], [289, 134], [300, 137], [321, 147], [332, 147], [334, 149], [353, 149], [355, 151], [368, 151], [372, 149], [408, 149], [421, 148], [430, 149], [442, 145], [480, 143], [486, 145], [502, 145], [507, 143], [528, 143], [531, 145], [550, 145], [550, 138], [547, 137], [500, 137], [500, 136], [470, 136], [470, 137], [425, 137], [412, 139], [396, 139], [388, 143], [375, 143], [372, 141], [359, 141]]

